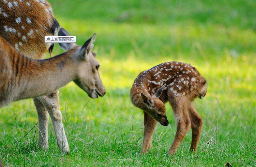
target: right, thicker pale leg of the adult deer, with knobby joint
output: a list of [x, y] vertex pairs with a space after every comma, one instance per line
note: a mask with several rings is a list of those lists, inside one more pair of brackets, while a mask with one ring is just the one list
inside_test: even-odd
[[41, 96], [39, 99], [44, 104], [51, 116], [59, 149], [63, 153], [69, 153], [68, 140], [62, 123], [62, 114], [60, 112], [58, 94], [59, 91], [57, 90], [50, 95]]

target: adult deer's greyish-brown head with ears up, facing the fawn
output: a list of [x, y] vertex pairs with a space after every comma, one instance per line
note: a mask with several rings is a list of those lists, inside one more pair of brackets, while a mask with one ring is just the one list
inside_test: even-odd
[[[70, 36], [63, 28], [59, 30], [58, 35]], [[78, 46], [75, 43], [59, 43], [61, 48], [70, 51], [74, 59], [79, 61], [77, 78], [73, 81], [91, 98], [98, 98], [98, 95], [102, 97], [106, 93], [99, 77], [99, 62], [95, 58], [97, 54], [91, 51], [94, 46], [95, 36], [96, 34], [87, 40], [83, 46]]]

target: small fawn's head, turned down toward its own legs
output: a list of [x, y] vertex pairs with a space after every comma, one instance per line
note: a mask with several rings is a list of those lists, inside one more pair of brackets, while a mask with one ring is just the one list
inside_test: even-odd
[[146, 95], [141, 93], [141, 99], [148, 108], [146, 112], [161, 125], [167, 126], [169, 124], [169, 121], [166, 117], [165, 106], [164, 103], [159, 99], [164, 87], [165, 84], [161, 88], [159, 88], [152, 97], [147, 97]]

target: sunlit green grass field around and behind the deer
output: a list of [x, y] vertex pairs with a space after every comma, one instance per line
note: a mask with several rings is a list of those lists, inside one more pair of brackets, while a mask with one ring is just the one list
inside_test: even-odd
[[[51, 0], [60, 25], [82, 45], [97, 33], [106, 95], [90, 99], [69, 83], [60, 91], [70, 155], [63, 155], [49, 121], [49, 150], [38, 149], [32, 99], [1, 109], [5, 166], [256, 166], [256, 1]], [[54, 55], [64, 52], [55, 45]], [[177, 153], [167, 153], [176, 132], [157, 125], [152, 150], [140, 154], [143, 113], [129, 99], [139, 72], [167, 61], [190, 63], [208, 81], [194, 105], [204, 120], [198, 152], [191, 130]]]

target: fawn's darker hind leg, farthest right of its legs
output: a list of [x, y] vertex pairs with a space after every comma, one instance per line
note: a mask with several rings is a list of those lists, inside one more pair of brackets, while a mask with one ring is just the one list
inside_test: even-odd
[[196, 152], [201, 131], [203, 128], [203, 119], [199, 115], [199, 113], [196, 111], [192, 103], [190, 104], [188, 110], [189, 110], [189, 116], [190, 116], [191, 128], [192, 128], [192, 142], [191, 142], [190, 150]]

